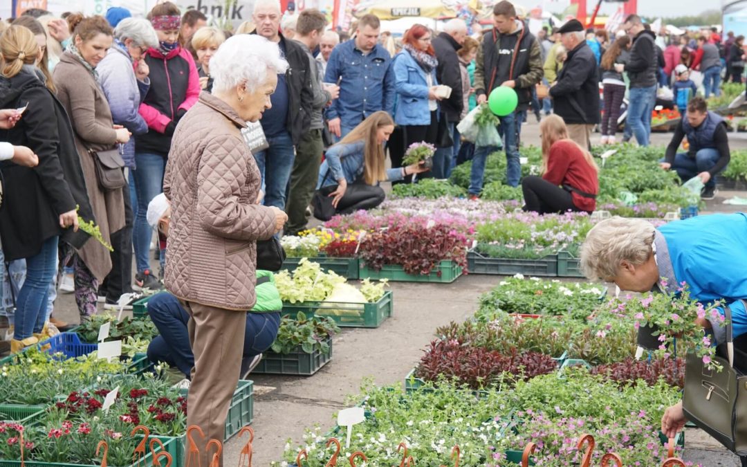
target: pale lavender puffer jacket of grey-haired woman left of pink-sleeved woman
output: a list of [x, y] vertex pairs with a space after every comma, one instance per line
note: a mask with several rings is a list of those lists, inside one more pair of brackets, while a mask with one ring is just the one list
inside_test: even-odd
[[[148, 124], [137, 109], [143, 102], [150, 86], [149, 78], [146, 81], [137, 81], [132, 69], [132, 59], [125, 46], [118, 40], [114, 41], [106, 57], [96, 67], [99, 72], [99, 84], [109, 102], [111, 108], [111, 120], [115, 125], [122, 125], [132, 134], [145, 134], [148, 132]], [[125, 143], [122, 155], [125, 166], [135, 168], [135, 140]]]

